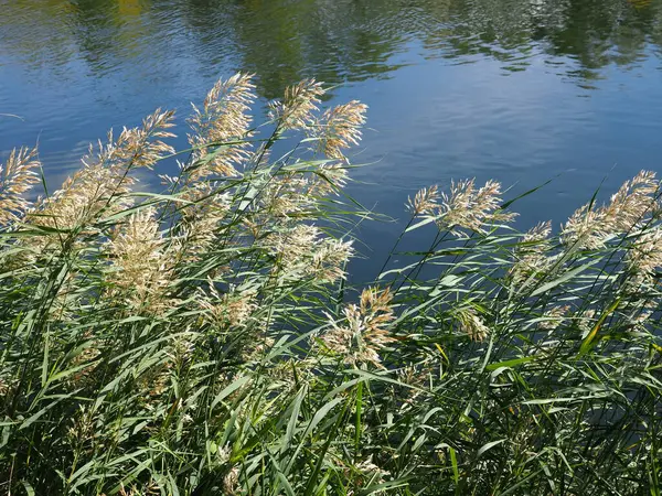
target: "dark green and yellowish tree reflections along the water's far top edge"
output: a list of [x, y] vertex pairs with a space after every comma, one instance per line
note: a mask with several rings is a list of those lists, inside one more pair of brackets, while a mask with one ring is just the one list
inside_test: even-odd
[[[662, 42], [649, 0], [6, 0], [0, 63], [62, 74], [77, 61], [96, 77], [163, 57], [186, 67], [229, 64], [257, 75], [266, 97], [303, 75], [332, 83], [384, 77], [394, 55], [498, 61], [591, 86], [605, 67], [634, 66]], [[159, 61], [154, 63], [153, 61]], [[142, 66], [147, 64], [147, 67]]]

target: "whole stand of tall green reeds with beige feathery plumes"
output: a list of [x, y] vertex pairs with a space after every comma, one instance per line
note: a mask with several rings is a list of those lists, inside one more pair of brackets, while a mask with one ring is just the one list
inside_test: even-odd
[[653, 174], [558, 233], [517, 233], [498, 183], [433, 186], [403, 233], [429, 246], [349, 288], [365, 107], [305, 80], [254, 128], [253, 89], [218, 82], [189, 150], [167, 111], [110, 134], [34, 203], [36, 151], [9, 158], [0, 493], [660, 494]]

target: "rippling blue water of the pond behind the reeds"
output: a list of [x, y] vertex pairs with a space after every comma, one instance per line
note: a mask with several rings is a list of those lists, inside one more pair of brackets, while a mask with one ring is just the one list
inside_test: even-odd
[[0, 114], [21, 117], [0, 116], [0, 155], [39, 141], [57, 182], [109, 127], [185, 114], [220, 76], [255, 73], [265, 100], [314, 76], [371, 107], [364, 204], [402, 217], [450, 177], [554, 179], [521, 222], [560, 222], [658, 169], [661, 47], [656, 0], [0, 0]]

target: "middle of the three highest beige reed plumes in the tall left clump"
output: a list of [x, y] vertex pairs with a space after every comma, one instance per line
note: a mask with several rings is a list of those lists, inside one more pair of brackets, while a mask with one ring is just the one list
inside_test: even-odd
[[303, 129], [312, 123], [312, 116], [319, 110], [320, 97], [324, 93], [322, 83], [314, 79], [303, 79], [296, 86], [288, 86], [282, 100], [269, 105], [269, 117], [278, 120], [284, 130]]

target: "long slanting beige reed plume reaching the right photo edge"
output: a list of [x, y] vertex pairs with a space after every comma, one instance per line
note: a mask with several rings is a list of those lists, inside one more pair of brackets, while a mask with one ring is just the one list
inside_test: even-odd
[[578, 208], [563, 226], [562, 241], [580, 249], [604, 247], [610, 237], [636, 228], [653, 213], [659, 187], [654, 172], [641, 171], [623, 183], [609, 204]]

